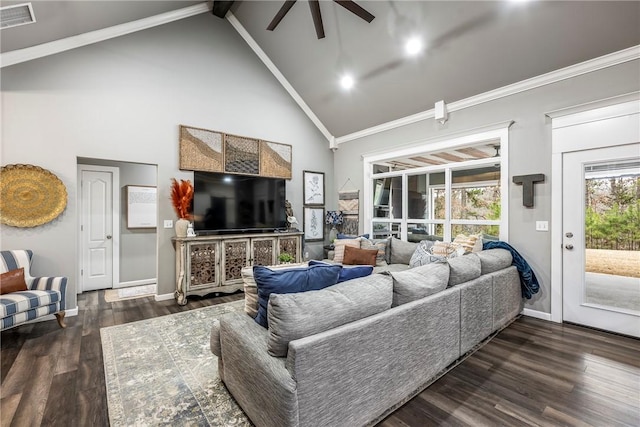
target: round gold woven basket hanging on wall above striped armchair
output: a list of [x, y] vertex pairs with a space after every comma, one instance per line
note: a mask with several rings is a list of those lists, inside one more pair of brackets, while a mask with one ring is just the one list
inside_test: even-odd
[[56, 175], [34, 165], [0, 169], [0, 222], [36, 227], [56, 219], [67, 206], [67, 189]]

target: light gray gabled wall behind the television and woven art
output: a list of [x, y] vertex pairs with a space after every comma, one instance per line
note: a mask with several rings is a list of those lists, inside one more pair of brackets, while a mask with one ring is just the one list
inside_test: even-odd
[[[302, 216], [302, 170], [326, 173], [328, 143], [224, 20], [202, 14], [69, 52], [2, 68], [4, 164], [55, 173], [69, 194], [55, 221], [33, 229], [0, 226], [2, 249], [30, 248], [34, 273], [69, 277], [76, 306], [77, 157], [157, 165], [158, 218], [178, 170], [178, 126], [213, 129], [293, 146], [287, 198]], [[158, 293], [175, 286], [172, 229], [158, 229]], [[321, 252], [321, 245], [320, 245]]]

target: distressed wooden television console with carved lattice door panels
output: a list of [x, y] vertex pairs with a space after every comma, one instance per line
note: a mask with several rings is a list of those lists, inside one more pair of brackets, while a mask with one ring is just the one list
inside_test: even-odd
[[176, 248], [176, 301], [185, 305], [189, 295], [243, 290], [243, 267], [279, 264], [281, 253], [302, 262], [303, 234], [278, 231], [172, 238]]

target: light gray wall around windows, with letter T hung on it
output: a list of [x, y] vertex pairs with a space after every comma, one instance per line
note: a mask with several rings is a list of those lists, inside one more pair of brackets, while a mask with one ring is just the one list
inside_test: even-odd
[[[627, 62], [517, 95], [455, 111], [444, 125], [425, 120], [401, 128], [340, 144], [335, 155], [336, 185], [350, 179], [363, 188], [362, 155], [420, 140], [444, 137], [481, 126], [513, 120], [509, 131], [509, 181], [514, 175], [543, 173], [535, 184], [533, 208], [522, 206], [522, 186], [510, 184], [509, 243], [528, 261], [541, 282], [541, 291], [526, 307], [551, 312], [551, 233], [535, 231], [536, 221], [551, 220], [551, 124], [545, 113], [640, 90], [640, 62]], [[448, 102], [456, 100], [447, 100]], [[425, 147], [425, 150], [428, 149]], [[362, 209], [362, 208], [361, 208]], [[361, 211], [362, 217], [362, 211]]]

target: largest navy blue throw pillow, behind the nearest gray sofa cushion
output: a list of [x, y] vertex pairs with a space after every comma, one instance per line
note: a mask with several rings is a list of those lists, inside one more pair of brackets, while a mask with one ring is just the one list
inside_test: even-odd
[[310, 265], [306, 268], [287, 270], [271, 270], [267, 267], [254, 266], [253, 278], [258, 287], [258, 315], [256, 322], [267, 328], [267, 306], [269, 295], [291, 294], [295, 292], [315, 291], [338, 283], [341, 265]]

